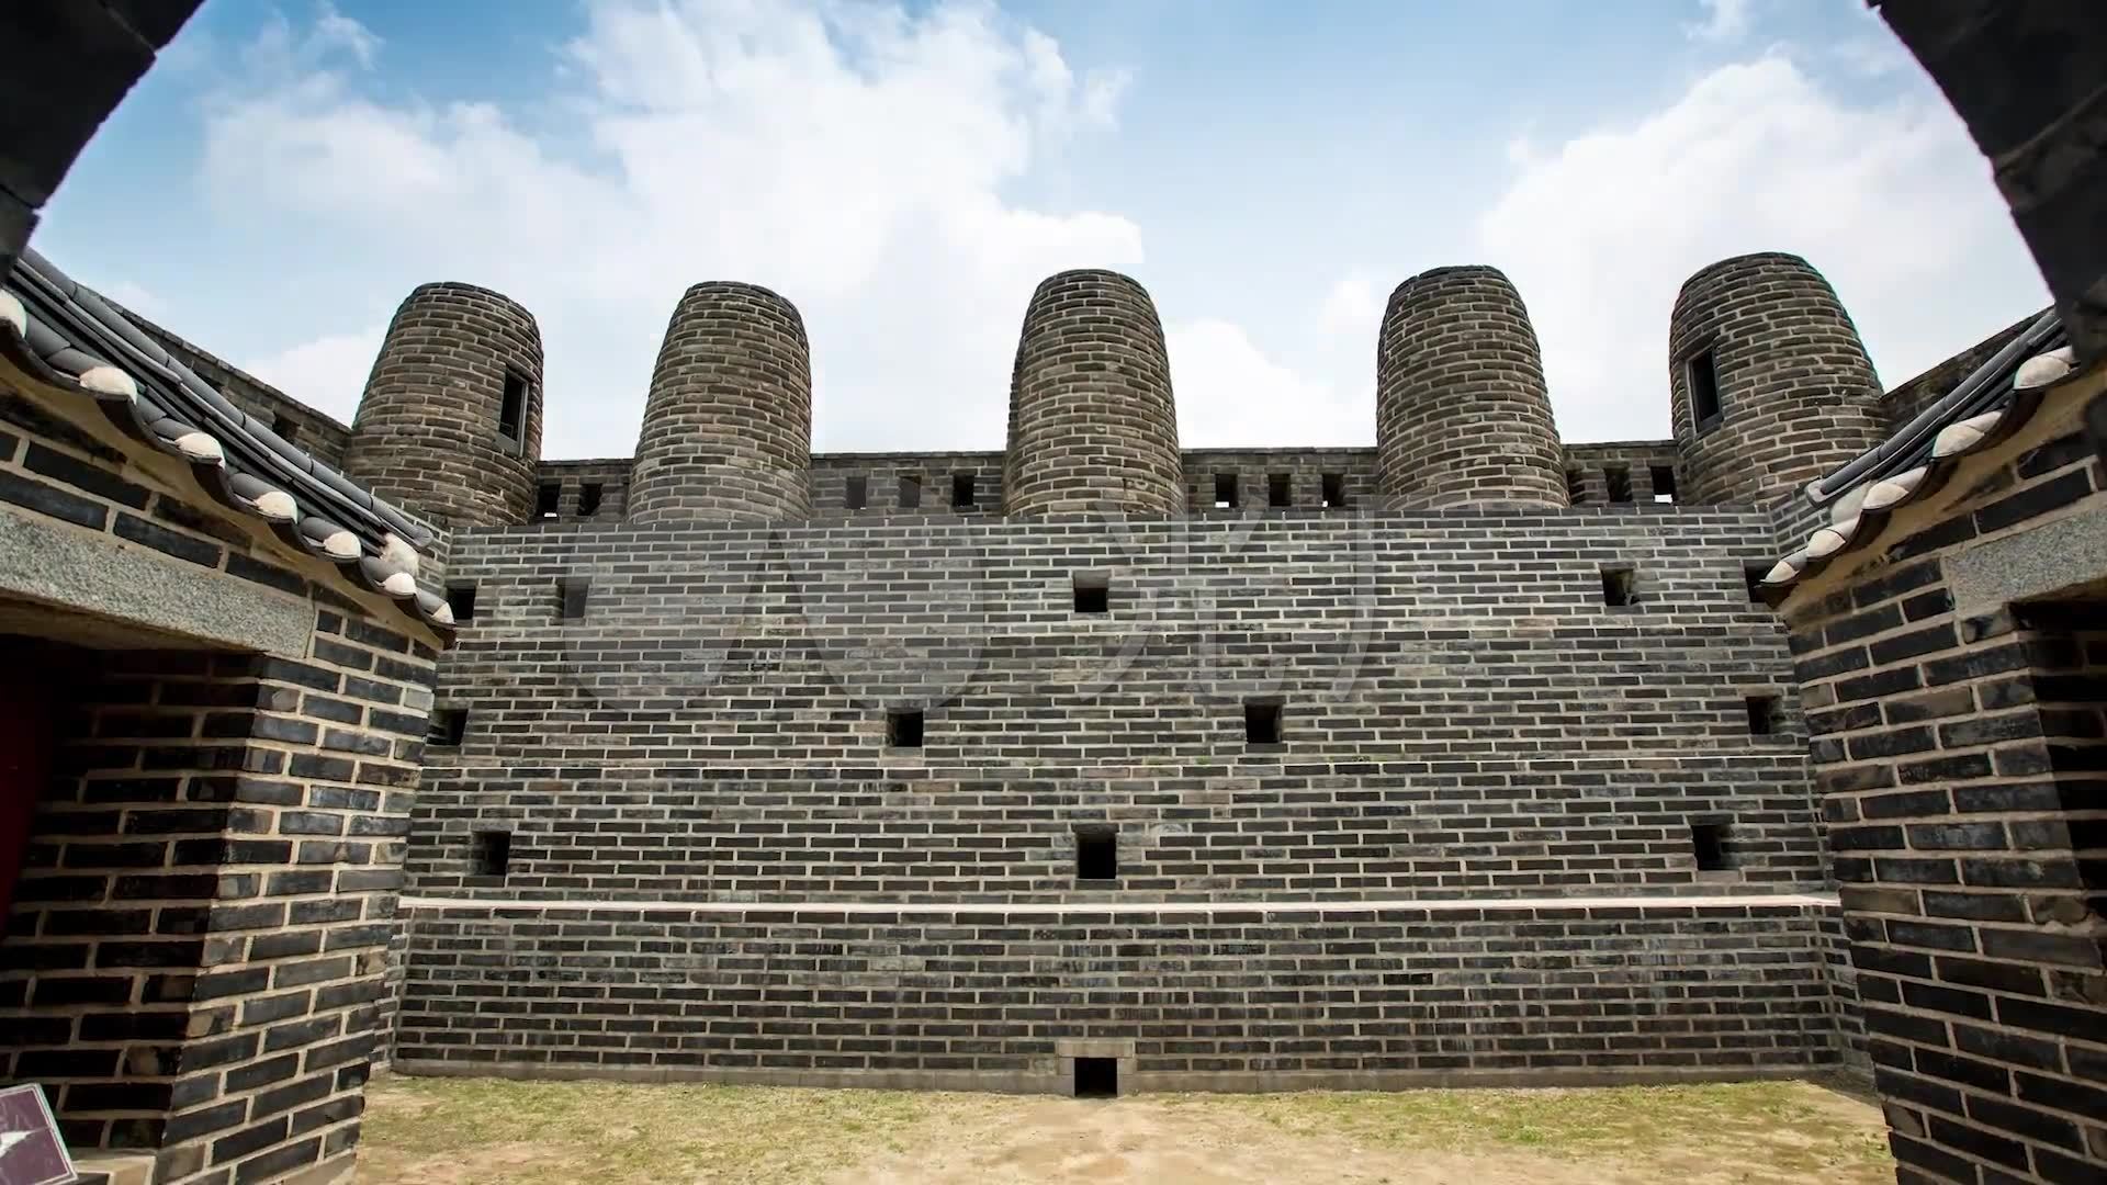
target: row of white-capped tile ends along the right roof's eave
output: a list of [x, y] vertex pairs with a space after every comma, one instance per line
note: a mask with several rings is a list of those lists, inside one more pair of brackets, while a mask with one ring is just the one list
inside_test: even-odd
[[[2037, 367], [2035, 363], [2044, 365]], [[1852, 489], [1846, 496], [1848, 500], [1839, 500], [1833, 510], [1837, 521], [1816, 527], [1797, 550], [1780, 559], [1757, 580], [1764, 601], [1776, 607], [1795, 584], [1835, 563], [1837, 557], [1877, 540], [1888, 525], [1888, 517], [1938, 491], [1964, 460], [2002, 443], [2025, 426], [2040, 411], [2048, 388], [2071, 373], [2075, 373], [2075, 354], [2069, 346], [2035, 354], [2021, 363], [2012, 375], [2012, 396], [1981, 415], [1970, 415], [1941, 428], [1938, 439], [1932, 443], [1930, 462], [1871, 481]], [[2029, 384], [2029, 380], [2035, 382]]]

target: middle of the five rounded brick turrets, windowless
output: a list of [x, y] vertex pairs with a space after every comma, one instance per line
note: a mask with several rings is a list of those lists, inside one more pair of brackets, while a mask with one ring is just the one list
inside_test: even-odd
[[1024, 310], [1009, 373], [1003, 512], [1184, 512], [1163, 323], [1119, 272], [1062, 272]]

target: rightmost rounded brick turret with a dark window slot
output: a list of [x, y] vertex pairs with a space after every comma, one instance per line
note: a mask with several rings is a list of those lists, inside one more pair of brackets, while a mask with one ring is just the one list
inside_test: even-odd
[[1774, 502], [1886, 434], [1858, 329], [1799, 255], [1736, 255], [1683, 283], [1669, 390], [1690, 502]]

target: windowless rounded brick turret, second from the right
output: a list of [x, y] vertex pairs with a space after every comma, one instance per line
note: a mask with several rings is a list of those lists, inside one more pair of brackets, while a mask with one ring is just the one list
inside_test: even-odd
[[1391, 293], [1376, 468], [1393, 508], [1566, 506], [1536, 329], [1498, 268], [1435, 268]]

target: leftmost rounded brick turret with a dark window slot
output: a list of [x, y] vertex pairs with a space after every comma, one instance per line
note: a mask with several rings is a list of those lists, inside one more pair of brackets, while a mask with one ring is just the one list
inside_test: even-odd
[[388, 323], [343, 474], [447, 527], [533, 514], [541, 329], [474, 285], [424, 285]]

